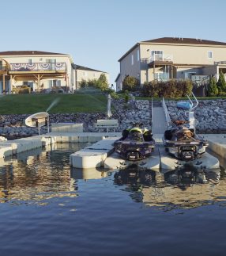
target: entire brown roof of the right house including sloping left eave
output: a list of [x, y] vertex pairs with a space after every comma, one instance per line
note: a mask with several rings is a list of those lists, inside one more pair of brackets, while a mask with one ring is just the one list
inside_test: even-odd
[[212, 40], [203, 40], [201, 38], [183, 38], [183, 37], [161, 37], [156, 38], [153, 40], [147, 40], [147, 41], [141, 41], [137, 44], [134, 44], [132, 48], [130, 48], [129, 51], [127, 51], [122, 57], [119, 59], [121, 61], [128, 55], [130, 52], [132, 52], [137, 46], [140, 44], [198, 44], [198, 45], [223, 45], [226, 46], [226, 43], [224, 42], [218, 42], [218, 41], [212, 41]]

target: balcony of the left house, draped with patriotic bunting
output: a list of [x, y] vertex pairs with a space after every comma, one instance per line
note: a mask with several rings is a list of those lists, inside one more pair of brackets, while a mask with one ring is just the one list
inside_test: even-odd
[[65, 73], [66, 63], [11, 63], [9, 74]]

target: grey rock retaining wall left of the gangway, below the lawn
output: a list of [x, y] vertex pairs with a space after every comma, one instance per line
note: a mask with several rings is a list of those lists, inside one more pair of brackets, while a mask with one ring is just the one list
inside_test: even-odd
[[[114, 105], [115, 111], [112, 112], [111, 119], [119, 120], [119, 128], [115, 132], [121, 132], [131, 122], [142, 122], [145, 126], [149, 126], [151, 121], [149, 101], [129, 101], [128, 104], [125, 104], [124, 99], [119, 99], [112, 100], [112, 105]], [[1, 115], [0, 136], [7, 139], [18, 139], [38, 135], [37, 128], [28, 128], [24, 125], [24, 120], [29, 115]], [[50, 114], [50, 123], [83, 123], [84, 132], [103, 132], [104, 129], [95, 128], [97, 119], [107, 119], [107, 106], [106, 113]], [[44, 132], [47, 132], [46, 127], [41, 128], [41, 133]]]

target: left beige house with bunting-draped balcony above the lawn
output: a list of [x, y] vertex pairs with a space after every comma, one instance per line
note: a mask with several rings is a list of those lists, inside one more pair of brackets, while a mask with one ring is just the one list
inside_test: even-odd
[[68, 54], [39, 51], [0, 52], [0, 93], [18, 88], [29, 91], [74, 90], [73, 59]]

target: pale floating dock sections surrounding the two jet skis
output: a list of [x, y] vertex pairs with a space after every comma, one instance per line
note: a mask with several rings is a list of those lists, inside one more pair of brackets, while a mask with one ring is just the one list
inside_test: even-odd
[[[55, 143], [92, 143], [81, 151], [70, 155], [70, 165], [77, 169], [99, 168], [120, 169], [130, 166], [130, 161], [119, 158], [114, 153], [113, 143], [121, 136], [120, 132], [50, 132], [40, 136], [32, 136], [23, 139], [14, 139], [0, 142], [0, 159], [10, 155], [17, 155], [24, 151], [40, 147], [48, 147]], [[209, 149], [225, 158], [226, 156], [226, 136], [224, 134], [202, 135], [209, 141]], [[161, 135], [155, 135], [156, 148], [148, 159], [137, 162], [137, 166], [147, 170], [174, 170], [183, 165], [179, 161], [170, 157], [165, 151], [161, 142]], [[2, 161], [1, 161], [2, 162]], [[202, 159], [194, 160], [194, 166], [213, 170], [220, 167], [216, 157], [205, 153]]]

